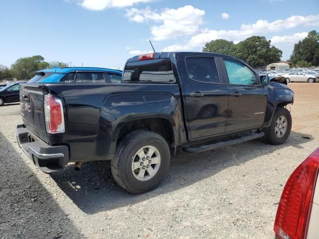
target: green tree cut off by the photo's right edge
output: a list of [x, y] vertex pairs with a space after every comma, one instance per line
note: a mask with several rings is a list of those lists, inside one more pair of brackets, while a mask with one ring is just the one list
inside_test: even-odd
[[319, 32], [311, 31], [308, 36], [295, 44], [291, 62], [297, 64], [298, 61], [309, 62], [313, 66], [319, 65]]

